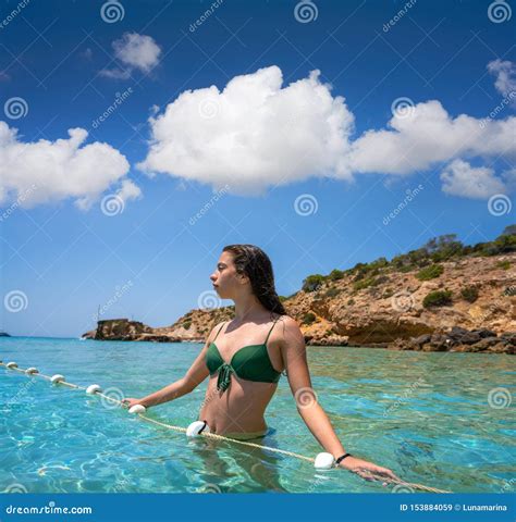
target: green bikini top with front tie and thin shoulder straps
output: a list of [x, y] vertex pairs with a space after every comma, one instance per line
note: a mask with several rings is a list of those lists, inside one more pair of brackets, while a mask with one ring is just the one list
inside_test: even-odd
[[266, 341], [262, 345], [244, 346], [234, 353], [230, 362], [225, 362], [222, 359], [219, 348], [217, 348], [214, 344], [225, 323], [221, 325], [206, 352], [206, 365], [210, 371], [210, 375], [219, 372], [217, 389], [224, 393], [230, 387], [232, 373], [235, 373], [244, 381], [255, 381], [258, 383], [278, 383], [278, 381], [280, 381], [281, 372], [274, 370], [267, 351], [267, 341], [277, 322], [278, 320], [272, 324], [271, 330], [267, 334]]

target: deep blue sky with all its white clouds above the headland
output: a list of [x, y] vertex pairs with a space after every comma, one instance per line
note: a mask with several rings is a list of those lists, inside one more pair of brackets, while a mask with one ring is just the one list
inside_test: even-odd
[[514, 222], [509, 3], [112, 4], [0, 5], [12, 335], [78, 336], [99, 306], [171, 324], [228, 244], [263, 248], [290, 295]]

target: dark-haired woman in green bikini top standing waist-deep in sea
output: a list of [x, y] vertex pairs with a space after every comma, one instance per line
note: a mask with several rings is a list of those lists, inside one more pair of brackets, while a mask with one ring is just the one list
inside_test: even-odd
[[285, 371], [299, 414], [340, 467], [366, 478], [376, 474], [398, 480], [391, 470], [344, 450], [317, 402], [305, 339], [275, 293], [268, 256], [253, 245], [226, 246], [210, 279], [220, 298], [234, 301], [234, 319], [211, 331], [183, 378], [143, 399], [124, 399], [124, 403], [130, 408], [157, 406], [191, 393], [209, 376], [199, 420], [211, 433], [258, 438], [268, 432], [263, 414]]

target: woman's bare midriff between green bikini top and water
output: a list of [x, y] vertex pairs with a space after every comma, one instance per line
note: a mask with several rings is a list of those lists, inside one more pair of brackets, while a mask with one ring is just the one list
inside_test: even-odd
[[231, 386], [222, 394], [217, 389], [217, 375], [212, 375], [199, 420], [219, 435], [265, 431], [268, 426], [263, 415], [277, 388], [277, 383], [244, 381], [233, 374]]

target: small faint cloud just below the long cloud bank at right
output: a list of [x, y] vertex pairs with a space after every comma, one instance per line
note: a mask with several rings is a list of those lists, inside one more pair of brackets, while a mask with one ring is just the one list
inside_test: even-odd
[[452, 161], [441, 173], [442, 189], [453, 196], [488, 199], [494, 194], [504, 194], [505, 184], [492, 169], [474, 167], [463, 160]]

